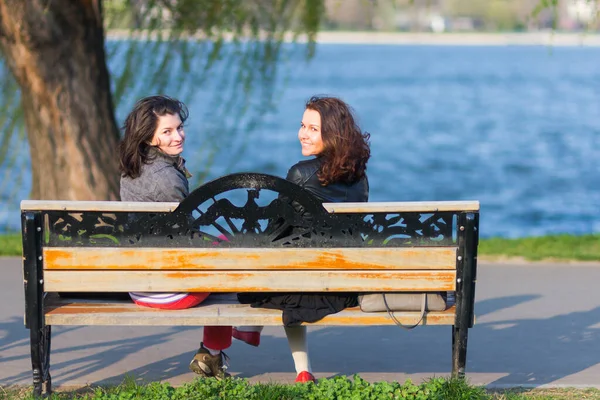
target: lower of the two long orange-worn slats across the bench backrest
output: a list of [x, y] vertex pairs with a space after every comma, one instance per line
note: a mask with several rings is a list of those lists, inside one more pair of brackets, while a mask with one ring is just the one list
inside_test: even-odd
[[455, 270], [81, 271], [47, 270], [47, 292], [311, 292], [455, 290]]

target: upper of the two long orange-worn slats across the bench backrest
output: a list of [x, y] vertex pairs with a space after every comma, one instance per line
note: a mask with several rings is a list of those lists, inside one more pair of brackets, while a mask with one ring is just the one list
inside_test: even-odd
[[456, 248], [47, 247], [43, 259], [46, 270], [452, 270]]

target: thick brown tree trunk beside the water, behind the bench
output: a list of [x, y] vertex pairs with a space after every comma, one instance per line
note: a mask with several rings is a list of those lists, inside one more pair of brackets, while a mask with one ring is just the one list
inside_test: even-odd
[[21, 88], [31, 197], [117, 200], [101, 0], [0, 0], [0, 48]]

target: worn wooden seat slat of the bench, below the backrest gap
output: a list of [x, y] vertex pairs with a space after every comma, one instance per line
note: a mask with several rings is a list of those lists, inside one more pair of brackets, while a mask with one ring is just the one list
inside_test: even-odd
[[[53, 298], [46, 303], [45, 319], [48, 325], [282, 325], [279, 310], [251, 308], [235, 300], [212, 300], [210, 297], [200, 306], [187, 310], [158, 310], [139, 307], [127, 301], [78, 302], [75, 299]], [[452, 325], [454, 313], [454, 307], [426, 313], [423, 325]], [[396, 312], [394, 316], [403, 324], [414, 324], [419, 319], [418, 312]], [[387, 313], [364, 313], [359, 308], [350, 308], [310, 325], [394, 325], [394, 321]]]

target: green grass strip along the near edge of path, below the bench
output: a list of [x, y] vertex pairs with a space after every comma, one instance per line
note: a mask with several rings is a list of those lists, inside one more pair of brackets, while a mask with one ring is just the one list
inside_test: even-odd
[[[369, 399], [405, 399], [405, 400], [600, 400], [597, 389], [512, 389], [486, 390], [459, 379], [432, 378], [420, 385], [410, 380], [398, 382], [369, 383], [355, 375], [349, 379], [337, 376], [320, 379], [315, 385], [297, 384], [250, 384], [245, 379], [198, 378], [180, 387], [168, 383], [137, 384], [134, 378], [128, 378], [123, 384], [111, 387], [86, 387], [75, 391], [57, 392], [52, 399], [147, 399], [147, 400], [183, 400], [183, 399], [265, 399], [265, 400], [369, 400]], [[31, 388], [0, 387], [0, 400], [33, 399]]]

